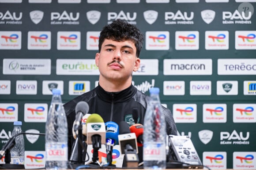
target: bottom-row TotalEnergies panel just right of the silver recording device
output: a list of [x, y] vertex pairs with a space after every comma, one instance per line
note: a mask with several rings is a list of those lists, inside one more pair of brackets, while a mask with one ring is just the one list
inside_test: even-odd
[[226, 170], [226, 152], [203, 152], [203, 165], [215, 170]]

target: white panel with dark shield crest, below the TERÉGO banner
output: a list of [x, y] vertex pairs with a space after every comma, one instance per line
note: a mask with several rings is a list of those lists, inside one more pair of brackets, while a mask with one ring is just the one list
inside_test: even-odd
[[238, 81], [217, 81], [217, 95], [237, 95]]

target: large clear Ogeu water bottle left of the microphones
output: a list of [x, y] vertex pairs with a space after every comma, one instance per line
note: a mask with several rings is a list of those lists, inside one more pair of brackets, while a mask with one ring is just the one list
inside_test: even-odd
[[45, 169], [67, 169], [68, 123], [59, 89], [53, 89], [45, 123], [45, 152]]

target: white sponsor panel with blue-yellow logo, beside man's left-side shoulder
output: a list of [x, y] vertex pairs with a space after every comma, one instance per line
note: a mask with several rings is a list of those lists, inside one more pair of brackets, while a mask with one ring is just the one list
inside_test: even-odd
[[69, 81], [68, 94], [80, 95], [90, 91], [90, 81]]

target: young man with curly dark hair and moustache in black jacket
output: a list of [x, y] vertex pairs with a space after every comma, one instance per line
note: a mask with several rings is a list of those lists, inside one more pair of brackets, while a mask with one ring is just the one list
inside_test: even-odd
[[[69, 136], [72, 136], [75, 105], [79, 101], [86, 101], [89, 105], [88, 113], [98, 113], [104, 122], [113, 121], [119, 124], [126, 121], [130, 125], [143, 124], [149, 96], [132, 85], [132, 72], [136, 72], [140, 66], [139, 53], [143, 40], [143, 34], [136, 26], [121, 20], [114, 21], [102, 29], [98, 44], [99, 52], [95, 56], [95, 63], [100, 72], [98, 87], [64, 105]], [[138, 119], [129, 122], [133, 109], [138, 110]], [[164, 107], [163, 113], [167, 135], [177, 135], [172, 113]], [[74, 138], [70, 137], [69, 151], [73, 142]]]

